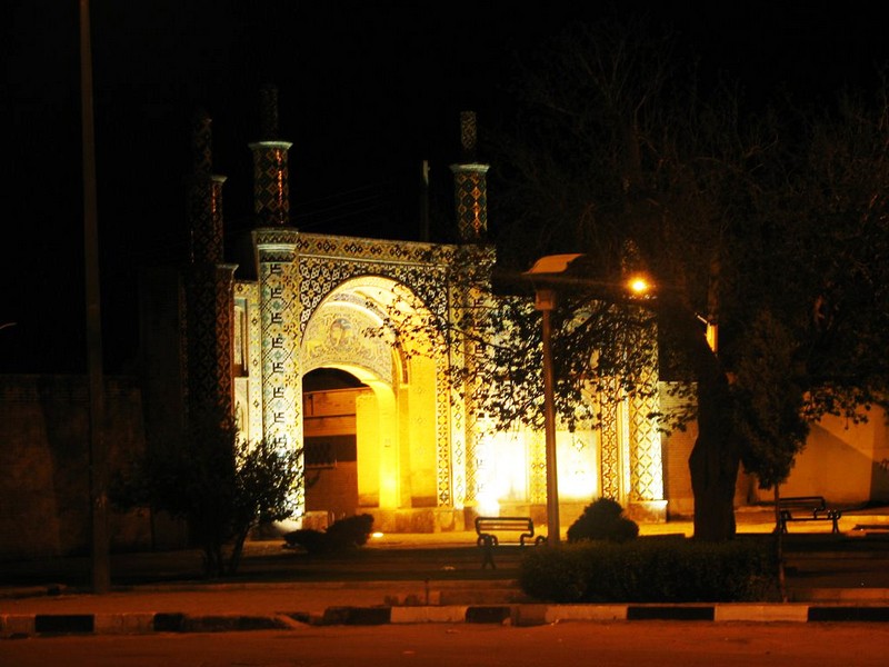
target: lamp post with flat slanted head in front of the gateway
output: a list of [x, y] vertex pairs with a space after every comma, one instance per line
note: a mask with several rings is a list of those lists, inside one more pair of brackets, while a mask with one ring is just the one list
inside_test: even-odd
[[[543, 320], [543, 429], [547, 450], [547, 544], [557, 546], [561, 539], [559, 526], [559, 477], [556, 457], [556, 382], [552, 372], [552, 311], [558, 295], [547, 277], [556, 278], [581, 255], [549, 255], [535, 262], [525, 276], [535, 286], [535, 308]], [[555, 281], [551, 281], [555, 282]]]

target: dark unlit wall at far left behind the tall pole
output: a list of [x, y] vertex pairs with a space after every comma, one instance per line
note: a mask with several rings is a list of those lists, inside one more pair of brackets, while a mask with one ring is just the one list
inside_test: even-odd
[[[108, 469], [144, 450], [134, 379], [107, 378]], [[0, 376], [0, 559], [84, 554], [90, 545], [89, 395], [80, 376]], [[109, 511], [113, 549], [151, 544], [148, 515]]]

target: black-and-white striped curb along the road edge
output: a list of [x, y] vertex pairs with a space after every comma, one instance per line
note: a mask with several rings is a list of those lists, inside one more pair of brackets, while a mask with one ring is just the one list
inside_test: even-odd
[[323, 616], [142, 614], [4, 614], [0, 638], [56, 635], [144, 635], [287, 630], [306, 625], [408, 625], [424, 623], [539, 626], [565, 621], [680, 620], [710, 623], [887, 623], [889, 605], [448, 605], [329, 607]]

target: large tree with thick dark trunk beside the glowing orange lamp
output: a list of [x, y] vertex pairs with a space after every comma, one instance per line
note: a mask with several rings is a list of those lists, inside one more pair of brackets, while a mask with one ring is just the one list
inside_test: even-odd
[[[593, 283], [615, 282], [629, 261], [659, 286], [649, 307], [662, 374], [693, 380], [697, 394], [693, 410], [673, 416], [675, 426], [698, 419], [690, 459], [696, 535], [726, 539], [735, 529], [741, 444], [729, 377], [699, 316], [723, 315], [732, 248], [769, 145], [760, 128], [741, 127], [730, 87], [705, 98], [693, 70], [678, 69], [671, 52], [670, 39], [643, 23], [563, 36], [522, 72], [515, 128], [493, 145], [492, 178], [505, 195], [493, 201], [505, 203], [498, 217], [510, 221], [500, 237], [506, 262], [527, 266], [529, 251], [585, 252]], [[601, 310], [605, 321], [592, 330], [605, 335], [576, 346], [566, 367], [627, 358], [627, 341], [610, 335], [621, 327], [616, 311]]]

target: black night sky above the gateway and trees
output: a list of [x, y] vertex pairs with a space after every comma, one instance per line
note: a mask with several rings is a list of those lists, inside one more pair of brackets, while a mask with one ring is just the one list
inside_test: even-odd
[[[77, 371], [83, 352], [76, 0], [13, 0], [0, 23], [3, 242], [0, 372]], [[247, 228], [257, 100], [280, 89], [292, 222], [306, 231], [416, 238], [421, 160], [449, 197], [458, 116], [496, 122], [517, 57], [611, 3], [363, 0], [92, 0], [107, 370], [136, 352], [139, 266], [182, 250], [189, 119], [213, 118], [227, 227]], [[650, 9], [680, 43], [753, 98], [817, 100], [889, 54], [872, 2], [615, 2]], [[629, 9], [628, 9], [629, 8]], [[872, 80], [872, 79], [871, 79]], [[11, 187], [10, 187], [11, 186]], [[11, 192], [11, 195], [9, 193]], [[449, 206], [449, 200], [444, 201]], [[16, 242], [12, 239], [18, 239]]]

